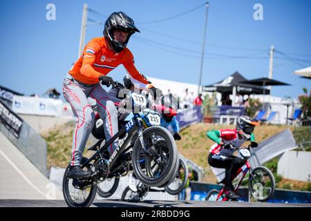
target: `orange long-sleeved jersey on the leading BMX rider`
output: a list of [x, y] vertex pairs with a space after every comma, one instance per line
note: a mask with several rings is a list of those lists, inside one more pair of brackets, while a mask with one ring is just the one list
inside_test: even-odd
[[123, 64], [135, 83], [140, 84], [140, 88], [151, 88], [150, 82], [135, 68], [134, 58], [129, 48], [115, 53], [106, 46], [104, 37], [97, 37], [88, 42], [82, 56], [69, 70], [69, 74], [84, 84], [97, 84], [101, 75], [108, 75], [120, 64]]

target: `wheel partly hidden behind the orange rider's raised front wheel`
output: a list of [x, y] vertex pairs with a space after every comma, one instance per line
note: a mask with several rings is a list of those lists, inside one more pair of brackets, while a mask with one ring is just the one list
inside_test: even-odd
[[189, 170], [187, 162], [179, 158], [179, 167], [175, 175], [175, 179], [168, 186], [165, 187], [165, 191], [171, 195], [177, 195], [185, 188], [188, 182]]

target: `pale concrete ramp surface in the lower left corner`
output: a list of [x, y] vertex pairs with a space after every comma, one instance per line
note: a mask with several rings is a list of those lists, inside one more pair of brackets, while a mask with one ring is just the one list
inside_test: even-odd
[[62, 200], [56, 189], [28, 158], [0, 132], [0, 199]]

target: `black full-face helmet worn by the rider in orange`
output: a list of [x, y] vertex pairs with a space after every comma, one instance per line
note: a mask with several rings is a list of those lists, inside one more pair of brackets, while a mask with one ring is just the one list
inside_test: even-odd
[[[124, 43], [115, 41], [113, 37], [115, 30], [121, 30], [129, 34]], [[106, 20], [103, 31], [106, 41], [116, 53], [121, 52], [126, 47], [129, 38], [135, 32], [140, 32], [140, 30], [135, 27], [133, 19], [125, 15], [124, 12], [113, 12]]]

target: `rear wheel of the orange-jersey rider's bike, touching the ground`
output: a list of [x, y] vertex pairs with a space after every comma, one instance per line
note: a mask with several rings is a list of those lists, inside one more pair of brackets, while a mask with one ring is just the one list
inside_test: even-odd
[[[81, 164], [84, 164], [88, 159], [82, 157]], [[88, 164], [84, 169], [90, 169], [92, 164]], [[70, 207], [88, 207], [93, 203], [96, 195], [97, 185], [87, 179], [71, 179], [68, 178], [67, 172], [70, 164], [66, 167], [63, 178], [63, 195], [66, 204]]]

